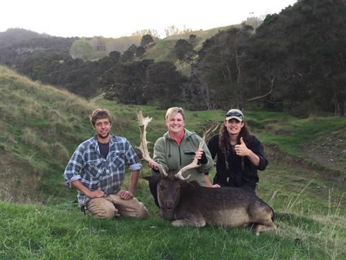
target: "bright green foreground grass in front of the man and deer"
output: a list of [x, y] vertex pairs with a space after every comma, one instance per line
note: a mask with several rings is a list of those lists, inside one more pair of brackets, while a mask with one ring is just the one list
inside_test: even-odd
[[[255, 236], [248, 228], [172, 227], [158, 217], [141, 181], [136, 196], [150, 211], [147, 220], [98, 220], [83, 216], [72, 201], [49, 207], [0, 202], [0, 259], [344, 259], [340, 197], [318, 202], [310, 184], [295, 200], [300, 186], [289, 191], [273, 180], [276, 168], [263, 175], [260, 196], [275, 209], [277, 232]], [[328, 193], [329, 187], [322, 192]], [[286, 212], [289, 198], [295, 203]]]

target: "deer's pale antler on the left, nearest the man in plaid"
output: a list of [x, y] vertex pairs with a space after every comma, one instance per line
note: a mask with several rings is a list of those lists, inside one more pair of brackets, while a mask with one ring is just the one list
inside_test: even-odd
[[[142, 152], [142, 157], [143, 159], [145, 159], [145, 161], [152, 162], [154, 160], [152, 159], [152, 157], [150, 157], [150, 154], [148, 151], [147, 144], [149, 144], [149, 142], [147, 141], [147, 130], [146, 130], [148, 123], [152, 121], [152, 117], [150, 118], [144, 117], [142, 110], [138, 110], [137, 119], [138, 119], [138, 124], [140, 129], [140, 146], [138, 147], [138, 149]], [[165, 169], [163, 168], [163, 166], [157, 163], [156, 163], [156, 166], [158, 168], [158, 171], [161, 173], [161, 175], [163, 175], [163, 177], [167, 177], [167, 173]]]

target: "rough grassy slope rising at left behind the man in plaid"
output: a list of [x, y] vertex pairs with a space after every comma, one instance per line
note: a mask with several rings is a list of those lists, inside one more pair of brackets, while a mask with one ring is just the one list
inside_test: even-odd
[[90, 134], [92, 105], [6, 67], [0, 76], [0, 199], [24, 200], [42, 176], [63, 171], [71, 144]]

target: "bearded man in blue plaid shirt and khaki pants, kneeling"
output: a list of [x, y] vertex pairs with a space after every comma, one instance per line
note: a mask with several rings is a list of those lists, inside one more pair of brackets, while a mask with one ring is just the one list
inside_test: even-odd
[[[147, 218], [148, 211], [134, 198], [141, 164], [129, 141], [111, 134], [111, 115], [98, 109], [89, 116], [95, 135], [73, 153], [64, 172], [66, 187], [78, 190], [78, 204], [97, 218], [133, 216]], [[131, 178], [121, 189], [125, 163]]]

